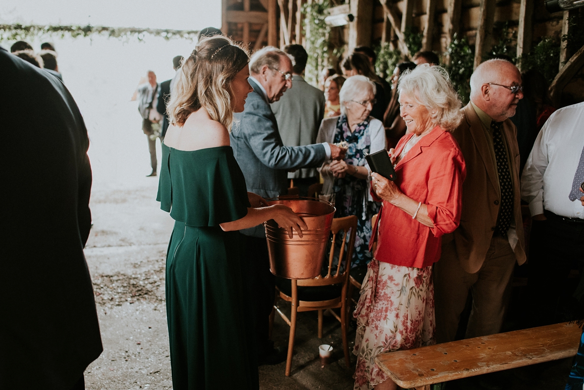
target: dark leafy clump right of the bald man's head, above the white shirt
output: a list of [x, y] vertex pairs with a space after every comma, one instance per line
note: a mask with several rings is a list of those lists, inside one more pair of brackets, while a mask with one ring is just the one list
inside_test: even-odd
[[551, 82], [559, 71], [559, 42], [552, 37], [544, 37], [528, 54], [519, 58], [522, 72], [536, 68]]

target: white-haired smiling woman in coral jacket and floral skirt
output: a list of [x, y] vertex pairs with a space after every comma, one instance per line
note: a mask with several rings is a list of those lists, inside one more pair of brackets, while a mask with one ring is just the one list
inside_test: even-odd
[[442, 235], [458, 227], [463, 155], [450, 131], [461, 103], [446, 71], [420, 65], [399, 81], [400, 114], [408, 133], [390, 156], [397, 180], [371, 173], [371, 194], [383, 201], [377, 241], [354, 316], [355, 389], [397, 389], [374, 362], [387, 351], [434, 343], [432, 264]]

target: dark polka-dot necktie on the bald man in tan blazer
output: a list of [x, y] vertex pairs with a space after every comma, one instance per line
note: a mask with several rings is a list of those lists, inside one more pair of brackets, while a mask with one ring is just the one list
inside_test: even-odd
[[513, 183], [509, 172], [509, 161], [507, 152], [503, 145], [501, 134], [501, 123], [491, 122], [493, 131], [493, 148], [495, 149], [495, 159], [497, 161], [497, 172], [499, 173], [499, 187], [501, 190], [501, 205], [499, 208], [499, 218], [497, 218], [496, 231], [503, 237], [507, 236], [507, 231], [511, 226], [511, 216], [513, 214]]

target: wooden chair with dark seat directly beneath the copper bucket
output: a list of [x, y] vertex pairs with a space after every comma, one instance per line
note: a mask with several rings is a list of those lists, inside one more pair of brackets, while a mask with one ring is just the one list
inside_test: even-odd
[[[278, 312], [284, 321], [290, 326], [290, 338], [288, 339], [288, 358], [286, 360], [286, 376], [290, 376], [292, 366], [292, 354], [294, 351], [294, 334], [296, 333], [297, 312], [318, 310], [318, 337], [322, 338], [322, 312], [326, 309], [340, 308], [340, 317], [333, 315], [340, 321], [345, 351], [345, 363], [350, 367], [349, 344], [347, 343], [347, 287], [349, 284], [349, 270], [355, 245], [357, 230], [357, 217], [334, 218], [331, 227], [332, 242], [328, 256], [328, 271], [326, 276], [318, 276], [314, 279], [290, 280], [277, 278], [277, 295], [284, 301], [291, 302], [292, 310], [290, 319], [274, 305], [274, 311]], [[340, 246], [336, 240], [343, 232], [343, 240]], [[340, 249], [339, 249], [340, 248]], [[336, 270], [333, 271], [333, 260], [339, 259]], [[344, 261], [343, 261], [344, 260]], [[339, 264], [344, 264], [342, 267]], [[279, 294], [278, 294], [279, 293]], [[274, 321], [274, 311], [270, 315], [270, 329]]]

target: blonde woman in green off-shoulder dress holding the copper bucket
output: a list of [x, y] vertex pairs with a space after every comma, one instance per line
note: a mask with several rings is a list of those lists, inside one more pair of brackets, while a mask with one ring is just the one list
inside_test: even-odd
[[158, 189], [176, 221], [166, 257], [172, 384], [185, 389], [258, 389], [239, 229], [270, 219], [306, 229], [290, 208], [246, 192], [230, 147], [232, 114], [252, 91], [248, 54], [230, 39], [201, 41], [186, 58], [168, 105]]

